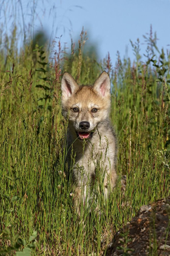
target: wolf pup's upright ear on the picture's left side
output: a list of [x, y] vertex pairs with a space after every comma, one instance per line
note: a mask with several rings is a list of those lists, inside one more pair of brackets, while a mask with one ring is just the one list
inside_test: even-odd
[[78, 84], [69, 73], [64, 73], [61, 79], [61, 91], [64, 98], [69, 98], [78, 90]]

